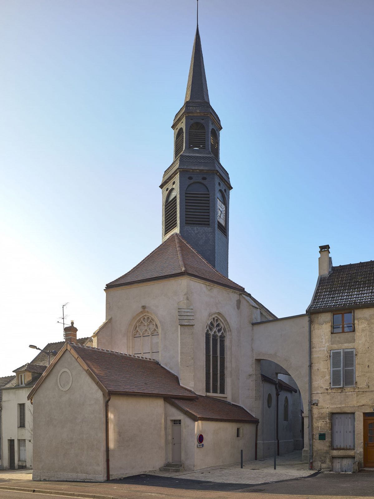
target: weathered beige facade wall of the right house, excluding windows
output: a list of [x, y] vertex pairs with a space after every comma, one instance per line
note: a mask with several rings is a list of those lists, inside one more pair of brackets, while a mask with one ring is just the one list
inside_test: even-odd
[[[363, 413], [374, 407], [374, 308], [355, 310], [355, 332], [331, 333], [331, 313], [311, 315], [312, 331], [312, 406], [314, 468], [330, 469], [332, 456], [352, 456], [363, 466]], [[330, 350], [356, 348], [356, 386], [330, 388]], [[355, 413], [353, 451], [332, 451], [332, 413]], [[318, 434], [326, 433], [326, 441]]]

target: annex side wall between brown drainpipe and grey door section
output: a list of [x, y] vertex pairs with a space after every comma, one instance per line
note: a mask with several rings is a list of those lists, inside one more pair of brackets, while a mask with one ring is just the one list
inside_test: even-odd
[[110, 478], [165, 464], [164, 399], [112, 395], [109, 402]]

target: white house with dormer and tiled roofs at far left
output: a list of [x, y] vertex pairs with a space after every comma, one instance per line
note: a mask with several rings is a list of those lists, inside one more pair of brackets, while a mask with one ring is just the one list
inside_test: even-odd
[[[76, 332], [75, 341], [77, 341]], [[78, 343], [92, 344], [92, 340], [89, 337], [81, 338]], [[13, 371], [15, 375], [0, 378], [1, 469], [32, 468], [34, 418], [27, 395], [48, 366], [48, 355], [45, 352], [58, 352], [64, 344], [64, 341], [48, 343], [43, 348], [44, 351], [41, 351], [31, 362], [15, 369]], [[50, 361], [53, 358], [54, 354], [51, 353]], [[1, 380], [7, 381], [1, 383]]]

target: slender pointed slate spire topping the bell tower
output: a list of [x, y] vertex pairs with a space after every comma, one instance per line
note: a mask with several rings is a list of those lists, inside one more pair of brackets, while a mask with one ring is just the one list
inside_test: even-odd
[[189, 66], [187, 90], [185, 102], [209, 102], [208, 86], [202, 57], [200, 33], [196, 27], [195, 39], [193, 41], [191, 64]]

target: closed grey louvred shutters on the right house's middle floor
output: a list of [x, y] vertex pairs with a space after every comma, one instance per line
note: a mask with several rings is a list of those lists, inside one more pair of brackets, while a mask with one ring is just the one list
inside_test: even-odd
[[331, 388], [355, 386], [356, 349], [345, 348], [330, 352]]

